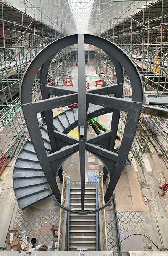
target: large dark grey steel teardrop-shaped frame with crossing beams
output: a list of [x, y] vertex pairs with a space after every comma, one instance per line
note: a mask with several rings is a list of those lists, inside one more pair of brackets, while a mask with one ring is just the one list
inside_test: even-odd
[[[84, 43], [97, 46], [110, 57], [115, 66], [117, 84], [86, 91]], [[78, 44], [78, 91], [48, 86], [47, 71], [53, 57], [61, 51], [61, 49], [73, 44]], [[132, 100], [123, 98], [123, 68], [128, 74], [132, 87]], [[32, 102], [32, 85], [39, 69], [42, 100]], [[109, 97], [107, 96], [109, 94], [114, 94], [115, 96]], [[55, 95], [57, 97], [50, 98], [50, 95]], [[97, 212], [108, 205], [113, 199], [113, 191], [128, 157], [136, 133], [144, 97], [139, 71], [130, 57], [118, 46], [99, 36], [74, 34], [57, 39], [42, 49], [27, 67], [21, 83], [20, 96], [24, 118], [26, 120], [32, 144], [57, 204], [60, 205], [60, 207], [63, 207], [60, 204], [61, 194], [56, 182], [56, 175], [58, 173], [61, 177], [61, 166], [63, 163], [72, 154], [79, 151], [81, 210], [74, 211], [66, 207], [63, 208], [77, 214], [86, 214]], [[55, 131], [53, 125], [52, 109], [73, 103], [78, 103], [79, 139]], [[88, 104], [100, 106], [100, 110], [98, 109], [95, 111], [95, 117], [105, 113], [113, 113], [111, 130], [89, 139], [87, 139], [86, 136], [87, 120], [90, 118], [90, 114], [87, 113]], [[113, 151], [121, 111], [127, 112], [127, 118], [120, 151], [116, 154]], [[45, 114], [52, 149], [51, 153], [48, 155], [45, 151], [37, 119], [37, 113], [39, 112], [44, 112]], [[63, 148], [65, 146], [66, 148]], [[104, 179], [106, 179], [107, 173], [109, 173], [110, 176], [110, 182], [105, 193], [105, 205], [92, 211], [86, 211], [84, 209], [85, 151], [89, 151], [102, 161], [105, 172]]]

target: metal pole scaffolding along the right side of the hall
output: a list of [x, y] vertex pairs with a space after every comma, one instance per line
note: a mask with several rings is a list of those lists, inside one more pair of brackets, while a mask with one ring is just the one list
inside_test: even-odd
[[[123, 5], [124, 6], [124, 5]], [[124, 8], [124, 7], [123, 7]], [[113, 13], [115, 17], [115, 12]], [[144, 93], [168, 96], [168, 1], [147, 3], [129, 17], [120, 15], [102, 27], [100, 36], [122, 48], [136, 63], [142, 77]], [[116, 74], [110, 58], [95, 48], [95, 66], [107, 84], [116, 83]], [[124, 72], [123, 96], [132, 94], [129, 77]], [[155, 105], [157, 106], [157, 105]], [[167, 108], [168, 106], [157, 106]], [[120, 117], [120, 133], [124, 130]], [[121, 134], [122, 135], [122, 134]], [[144, 154], [161, 154], [168, 164], [168, 120], [141, 114], [136, 137], [136, 154], [141, 165]]]

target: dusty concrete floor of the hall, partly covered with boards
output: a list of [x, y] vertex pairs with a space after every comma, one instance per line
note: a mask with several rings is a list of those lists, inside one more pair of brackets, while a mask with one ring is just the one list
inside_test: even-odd
[[[90, 70], [86, 67], [86, 71], [90, 74], [94, 73], [94, 69]], [[74, 88], [78, 89], [77, 67], [74, 67], [73, 74]], [[88, 81], [89, 82], [89, 81]], [[89, 82], [90, 88], [94, 87], [94, 82]], [[69, 88], [68, 88], [69, 89]], [[58, 108], [53, 111], [54, 115], [63, 111]], [[103, 125], [110, 128], [111, 115], [107, 114], [99, 117], [99, 121]], [[78, 128], [75, 128], [69, 135], [78, 138]], [[87, 128], [87, 137], [94, 136], [95, 133], [91, 127]], [[119, 134], [118, 134], [119, 135]], [[119, 135], [120, 136], [120, 135]], [[120, 141], [116, 141], [116, 146]], [[12, 172], [15, 164], [15, 159], [12, 159], [9, 165], [5, 168], [0, 181], [0, 246], [5, 245], [6, 235], [9, 228], [13, 228], [18, 224], [21, 230], [26, 230], [27, 235], [31, 236], [31, 231], [34, 228], [40, 230], [43, 218], [51, 218], [52, 223], [58, 223], [59, 209], [54, 205], [52, 197], [42, 202], [36, 203], [27, 210], [18, 208], [13, 193]], [[94, 162], [92, 167], [91, 162]], [[102, 171], [102, 163], [93, 155], [86, 153], [86, 181], [97, 175], [97, 170]], [[69, 158], [64, 166], [66, 174], [71, 177], [71, 181], [79, 182], [79, 153], [74, 154]], [[91, 177], [90, 177], [91, 176]], [[168, 247], [168, 193], [165, 197], [158, 195], [157, 188], [159, 182], [168, 180], [168, 170], [166, 169], [162, 156], [153, 154], [153, 156], [145, 155], [144, 164], [139, 167], [133, 159], [131, 165], [124, 167], [118, 185], [115, 189], [116, 208], [118, 212], [118, 222], [121, 241], [130, 234], [140, 233], [149, 236], [154, 243], [160, 248], [161, 246]], [[145, 198], [147, 201], [145, 202]], [[113, 211], [110, 207], [106, 208], [107, 215], [107, 232], [108, 232], [108, 247], [111, 250], [116, 250], [116, 233], [114, 228]], [[52, 239], [52, 234], [48, 236], [40, 236], [41, 243], [49, 243]], [[141, 235], [134, 235], [121, 243], [122, 251], [157, 251], [157, 248]], [[134, 254], [132, 254], [134, 255]], [[147, 254], [146, 254], [147, 255]], [[159, 255], [159, 254], [158, 254]]]

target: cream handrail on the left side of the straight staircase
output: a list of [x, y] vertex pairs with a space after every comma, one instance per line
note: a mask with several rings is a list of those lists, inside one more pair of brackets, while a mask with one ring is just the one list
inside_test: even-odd
[[[64, 192], [66, 192], [66, 182], [65, 182], [65, 178], [68, 178], [68, 190], [70, 187], [70, 177], [66, 176], [65, 171], [62, 172], [62, 176], [63, 176], [63, 181], [62, 181], [62, 191], [61, 191], [61, 205], [63, 205], [64, 201], [65, 201], [65, 194]], [[69, 181], [70, 180], [70, 181]], [[70, 194], [70, 193], [69, 193]], [[70, 200], [70, 196], [68, 195], [68, 200]], [[70, 201], [69, 201], [70, 204]], [[63, 226], [63, 220], [64, 220], [64, 212], [65, 210], [63, 210], [62, 208], [60, 208], [60, 219], [59, 219], [59, 226], [58, 226], [58, 244], [57, 244], [57, 251], [60, 250], [61, 248], [61, 242], [62, 242], [62, 235], [61, 235], [61, 226]]]

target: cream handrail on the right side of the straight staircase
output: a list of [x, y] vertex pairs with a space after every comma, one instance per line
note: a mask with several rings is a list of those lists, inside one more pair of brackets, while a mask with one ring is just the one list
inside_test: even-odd
[[[100, 179], [101, 179], [101, 183], [100, 184], [100, 188], [102, 191], [100, 191], [100, 199], [102, 200], [103, 205], [105, 204], [105, 200], [104, 200], [104, 183], [103, 183], [103, 175], [104, 172], [101, 171], [100, 172]], [[102, 196], [102, 197], [101, 197]], [[105, 212], [105, 208], [102, 210], [103, 211], [103, 217], [102, 217], [102, 223], [104, 225], [104, 233], [103, 233], [103, 238], [105, 240], [105, 251], [108, 251], [108, 239], [107, 239], [107, 226], [106, 226], [106, 212]], [[105, 234], [105, 237], [104, 237]]]

